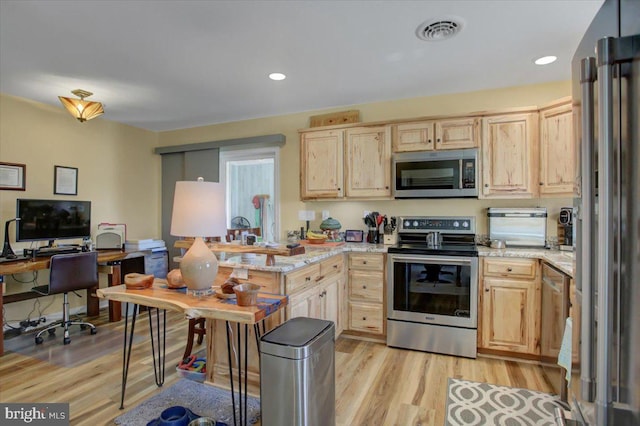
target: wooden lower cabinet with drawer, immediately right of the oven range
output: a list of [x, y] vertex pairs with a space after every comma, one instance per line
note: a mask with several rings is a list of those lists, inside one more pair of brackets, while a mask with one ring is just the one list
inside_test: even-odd
[[485, 258], [483, 262], [480, 352], [540, 355], [538, 260]]

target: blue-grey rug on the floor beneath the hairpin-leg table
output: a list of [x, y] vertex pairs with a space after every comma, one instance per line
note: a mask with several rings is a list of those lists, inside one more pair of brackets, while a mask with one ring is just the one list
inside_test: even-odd
[[[235, 395], [237, 406], [238, 393], [236, 392]], [[229, 425], [233, 424], [231, 392], [188, 379], [180, 379], [159, 394], [116, 417], [114, 421], [117, 425], [146, 426], [147, 423], [160, 417], [164, 409], [176, 405], [188, 408], [199, 416], [211, 417]], [[238, 414], [236, 409], [236, 415]], [[260, 418], [259, 399], [247, 398], [247, 418], [250, 424], [256, 423]]]

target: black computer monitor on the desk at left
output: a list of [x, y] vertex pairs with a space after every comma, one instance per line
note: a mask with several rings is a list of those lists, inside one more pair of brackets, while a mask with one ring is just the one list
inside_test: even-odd
[[16, 202], [16, 241], [49, 241], [91, 236], [91, 201], [32, 200]]

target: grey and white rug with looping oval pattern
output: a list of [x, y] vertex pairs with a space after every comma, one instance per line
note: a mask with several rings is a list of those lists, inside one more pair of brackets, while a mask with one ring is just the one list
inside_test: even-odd
[[444, 424], [553, 426], [555, 407], [567, 409], [556, 395], [449, 378]]

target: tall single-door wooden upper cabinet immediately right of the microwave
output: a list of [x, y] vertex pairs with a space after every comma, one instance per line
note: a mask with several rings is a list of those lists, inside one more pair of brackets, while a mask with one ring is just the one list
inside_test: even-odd
[[481, 198], [538, 195], [537, 140], [537, 112], [483, 118]]

